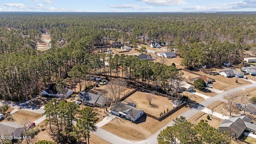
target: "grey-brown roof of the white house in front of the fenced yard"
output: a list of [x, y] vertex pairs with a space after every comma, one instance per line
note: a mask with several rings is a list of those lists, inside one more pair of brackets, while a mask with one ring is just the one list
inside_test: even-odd
[[114, 112], [123, 112], [125, 114], [129, 113], [130, 116], [135, 118], [135, 116], [138, 114], [139, 111], [143, 111], [139, 108], [128, 106], [127, 104], [123, 104], [122, 102], [116, 102], [110, 110], [113, 110]]

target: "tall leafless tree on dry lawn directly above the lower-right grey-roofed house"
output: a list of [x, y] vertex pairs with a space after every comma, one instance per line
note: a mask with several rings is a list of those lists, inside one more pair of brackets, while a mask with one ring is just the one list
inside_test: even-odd
[[225, 109], [228, 110], [230, 116], [231, 116], [231, 113], [236, 108], [234, 101], [237, 99], [237, 96], [238, 96], [238, 93], [234, 91], [229, 92], [227, 96], [225, 96], [225, 99], [227, 100]]

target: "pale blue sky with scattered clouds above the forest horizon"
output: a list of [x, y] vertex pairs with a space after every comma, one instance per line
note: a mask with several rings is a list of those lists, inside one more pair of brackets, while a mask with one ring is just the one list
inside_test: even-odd
[[0, 0], [14, 12], [223, 12], [256, 11], [256, 0]]

